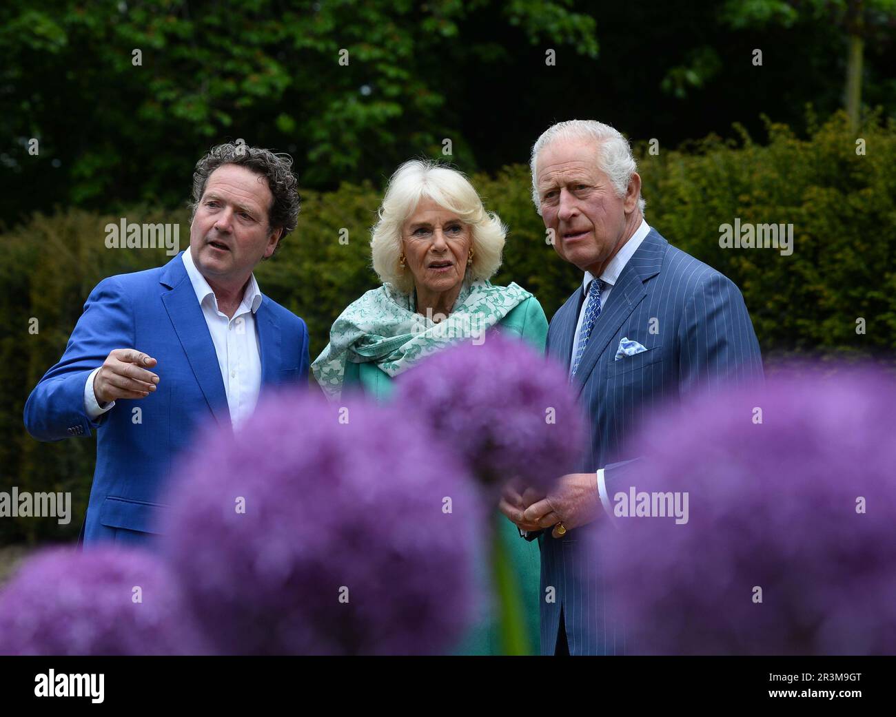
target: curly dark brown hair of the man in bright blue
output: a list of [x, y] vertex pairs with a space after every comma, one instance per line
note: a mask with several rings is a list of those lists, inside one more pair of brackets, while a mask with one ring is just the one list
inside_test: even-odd
[[[205, 184], [212, 172], [224, 165], [245, 166], [256, 175], [263, 176], [273, 195], [271, 209], [268, 211], [268, 232], [282, 229], [280, 241], [274, 253], [280, 251], [280, 244], [293, 229], [298, 219], [299, 199], [298, 182], [292, 173], [292, 158], [288, 154], [275, 154], [270, 149], [249, 147], [246, 144], [226, 142], [212, 147], [205, 157], [196, 162], [193, 173], [193, 201], [190, 210], [193, 216], [196, 207], [202, 200]], [[191, 217], [192, 221], [192, 217]]]

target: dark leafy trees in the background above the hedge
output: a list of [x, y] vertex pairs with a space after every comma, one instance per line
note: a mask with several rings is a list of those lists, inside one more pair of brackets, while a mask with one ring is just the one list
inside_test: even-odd
[[574, 116], [668, 147], [759, 136], [762, 111], [803, 132], [806, 102], [842, 106], [856, 33], [863, 101], [896, 116], [894, 28], [896, 0], [4, 0], [0, 223], [176, 206], [237, 138], [332, 191], [445, 139], [495, 174]]

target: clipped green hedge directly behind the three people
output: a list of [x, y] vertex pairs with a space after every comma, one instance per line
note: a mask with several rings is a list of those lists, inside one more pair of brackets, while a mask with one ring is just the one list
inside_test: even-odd
[[[812, 126], [807, 138], [768, 125], [762, 145], [744, 136], [737, 146], [709, 138], [681, 150], [638, 148], [646, 216], [686, 252], [731, 277], [745, 294], [766, 361], [784, 354], [851, 354], [887, 358], [896, 346], [896, 125], [869, 124], [859, 136], [841, 116]], [[538, 296], [548, 317], [581, 279], [545, 242], [530, 201], [526, 166], [508, 166], [474, 184], [510, 226], [504, 266], [495, 282], [516, 281]], [[185, 178], [185, 188], [187, 182]], [[332, 320], [369, 288], [369, 228], [381, 187], [343, 185], [306, 192], [297, 232], [256, 271], [262, 290], [307, 321], [312, 358]], [[134, 207], [129, 222], [179, 222], [188, 243], [185, 209]], [[772, 249], [722, 249], [719, 225], [792, 223], [793, 254]], [[79, 209], [35, 216], [0, 235], [4, 334], [0, 338], [0, 490], [73, 491], [71, 525], [51, 519], [0, 519], [0, 542], [70, 538], [77, 533], [93, 471], [95, 441], [32, 440], [22, 425], [30, 389], [62, 354], [90, 289], [103, 277], [158, 266], [162, 250], [110, 250], [104, 227], [118, 216]], [[349, 242], [340, 243], [348, 229]], [[39, 331], [29, 332], [30, 319]], [[856, 320], [866, 320], [857, 334]], [[138, 346], [139, 348], [139, 346]]]

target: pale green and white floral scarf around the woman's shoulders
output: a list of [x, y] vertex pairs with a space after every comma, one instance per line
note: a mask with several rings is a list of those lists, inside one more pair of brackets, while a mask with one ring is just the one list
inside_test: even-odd
[[417, 313], [414, 292], [402, 294], [383, 284], [350, 303], [333, 322], [330, 343], [311, 370], [323, 392], [339, 398], [347, 362], [372, 361], [395, 377], [452, 343], [467, 338], [481, 343], [488, 329], [531, 295], [517, 284], [464, 281], [451, 314], [435, 323]]

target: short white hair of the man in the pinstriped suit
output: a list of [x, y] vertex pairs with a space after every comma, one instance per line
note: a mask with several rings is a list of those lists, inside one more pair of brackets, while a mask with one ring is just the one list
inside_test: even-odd
[[[616, 195], [625, 197], [628, 183], [638, 169], [628, 140], [609, 124], [603, 124], [596, 120], [567, 120], [548, 127], [538, 137], [538, 141], [532, 145], [529, 168], [532, 175], [532, 201], [535, 204], [535, 209], [538, 209], [538, 214], [541, 214], [541, 202], [538, 201], [538, 154], [547, 145], [557, 140], [594, 142], [595, 146], [599, 148], [598, 168], [607, 175], [616, 189]], [[642, 213], [645, 206], [647, 204], [641, 198], [641, 192], [638, 192], [638, 209], [641, 209]]]

